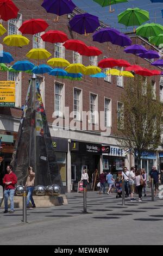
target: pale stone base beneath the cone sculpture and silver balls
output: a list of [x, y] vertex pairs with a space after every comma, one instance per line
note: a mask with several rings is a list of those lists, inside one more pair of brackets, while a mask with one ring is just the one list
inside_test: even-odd
[[[59, 205], [67, 205], [67, 198], [65, 194], [61, 194], [60, 196], [33, 196], [36, 208], [46, 208], [53, 207]], [[23, 205], [23, 197], [15, 196], [14, 197], [14, 208], [22, 208]], [[10, 208], [10, 199], [8, 200], [8, 206]], [[32, 206], [29, 204], [29, 206]], [[4, 200], [2, 202], [1, 208], [4, 208]]]

